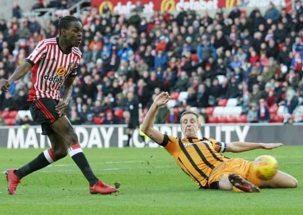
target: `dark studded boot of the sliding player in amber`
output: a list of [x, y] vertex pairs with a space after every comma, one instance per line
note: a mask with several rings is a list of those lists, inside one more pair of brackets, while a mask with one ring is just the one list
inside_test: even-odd
[[242, 178], [240, 175], [237, 174], [229, 174], [228, 176], [229, 181], [237, 187], [238, 189], [244, 192], [260, 192], [260, 188], [254, 185], [252, 182], [247, 181], [246, 179]]

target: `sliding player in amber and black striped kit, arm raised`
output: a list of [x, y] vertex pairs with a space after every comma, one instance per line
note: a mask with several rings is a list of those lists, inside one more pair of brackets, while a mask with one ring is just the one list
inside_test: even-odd
[[153, 127], [158, 109], [170, 100], [167, 92], [160, 93], [151, 105], [142, 124], [141, 130], [164, 147], [173, 157], [181, 170], [200, 187], [205, 189], [222, 189], [244, 192], [260, 192], [260, 188], [292, 188], [297, 180], [278, 171], [268, 181], [257, 178], [253, 172], [253, 162], [227, 158], [220, 153], [244, 152], [254, 149], [274, 149], [282, 144], [262, 144], [252, 142], [220, 142], [212, 138], [197, 138], [200, 129], [198, 115], [185, 111], [181, 115], [181, 131], [184, 138], [162, 134]]

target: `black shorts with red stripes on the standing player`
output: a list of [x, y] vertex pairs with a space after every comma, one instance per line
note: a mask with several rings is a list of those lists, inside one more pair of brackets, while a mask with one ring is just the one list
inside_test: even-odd
[[55, 107], [59, 101], [48, 98], [41, 98], [30, 103], [30, 111], [35, 122], [41, 124], [42, 134], [50, 135], [54, 131], [51, 124], [60, 116]]

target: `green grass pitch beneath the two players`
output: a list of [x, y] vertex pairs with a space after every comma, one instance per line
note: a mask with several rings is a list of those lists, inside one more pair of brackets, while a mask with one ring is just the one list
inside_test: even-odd
[[[18, 168], [42, 150], [0, 150], [0, 171]], [[199, 190], [164, 149], [84, 149], [95, 174], [121, 184], [112, 195], [91, 195], [80, 170], [68, 157], [35, 172], [8, 195], [0, 177], [0, 214], [303, 214], [303, 146], [232, 154], [254, 160], [272, 155], [279, 169], [297, 178], [295, 189], [261, 193]]]

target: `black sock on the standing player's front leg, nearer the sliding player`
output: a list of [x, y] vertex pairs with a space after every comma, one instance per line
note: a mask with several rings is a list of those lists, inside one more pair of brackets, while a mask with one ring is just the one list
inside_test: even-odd
[[72, 160], [77, 164], [90, 186], [93, 186], [99, 179], [93, 174], [83, 152], [74, 154]]

